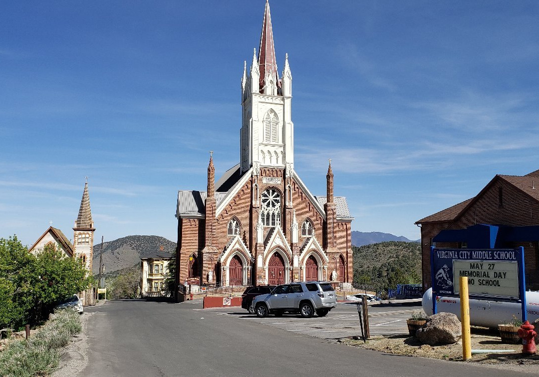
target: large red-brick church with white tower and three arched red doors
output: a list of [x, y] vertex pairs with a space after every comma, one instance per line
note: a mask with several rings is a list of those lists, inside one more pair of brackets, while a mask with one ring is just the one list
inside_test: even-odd
[[349, 285], [354, 219], [334, 196], [331, 160], [323, 196], [294, 170], [292, 72], [286, 54], [279, 76], [268, 2], [258, 57], [244, 62], [241, 111], [239, 163], [216, 181], [210, 152], [206, 191], [178, 192], [177, 284]]

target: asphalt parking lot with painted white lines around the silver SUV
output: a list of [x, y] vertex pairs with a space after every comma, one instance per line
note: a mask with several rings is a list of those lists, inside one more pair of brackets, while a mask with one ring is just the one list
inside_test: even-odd
[[[413, 311], [420, 311], [421, 304], [400, 306], [395, 304], [369, 305], [369, 326], [371, 337], [406, 334], [408, 332], [406, 319]], [[282, 317], [270, 315], [258, 318], [250, 315], [241, 308], [203, 309], [207, 315], [236, 316], [238, 320], [258, 322], [262, 325], [278, 327], [279, 329], [307, 334], [323, 339], [341, 339], [361, 337], [360, 319], [355, 303], [338, 303], [327, 316], [302, 318], [299, 314], [285, 314]]]

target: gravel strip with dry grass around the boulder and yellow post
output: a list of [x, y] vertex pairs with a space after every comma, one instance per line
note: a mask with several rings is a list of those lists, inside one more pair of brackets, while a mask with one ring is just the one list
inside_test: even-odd
[[[379, 352], [423, 357], [430, 359], [441, 359], [448, 361], [462, 361], [462, 343], [444, 346], [429, 346], [421, 344], [415, 337], [409, 335], [398, 335], [390, 337], [371, 337], [367, 343], [363, 340], [342, 339], [340, 343], [374, 350]], [[481, 364], [484, 366], [506, 369], [508, 371], [529, 372], [539, 374], [539, 355], [523, 356], [522, 345], [503, 344], [499, 335], [494, 330], [473, 328], [471, 336], [472, 350], [515, 350], [514, 353], [483, 353], [472, 355], [472, 359], [467, 362]]]

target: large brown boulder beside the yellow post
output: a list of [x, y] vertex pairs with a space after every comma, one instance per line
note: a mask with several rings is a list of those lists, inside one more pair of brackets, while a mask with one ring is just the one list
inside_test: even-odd
[[430, 316], [425, 326], [416, 332], [419, 341], [430, 346], [456, 343], [461, 336], [459, 318], [453, 313], [436, 313]]

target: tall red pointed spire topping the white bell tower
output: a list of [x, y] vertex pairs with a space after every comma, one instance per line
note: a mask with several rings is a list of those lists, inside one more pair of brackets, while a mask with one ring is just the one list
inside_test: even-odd
[[275, 60], [273, 28], [271, 25], [271, 15], [269, 13], [269, 3], [267, 0], [258, 54], [260, 93], [269, 95], [281, 94], [281, 82], [279, 80], [279, 73], [277, 72], [277, 61]]

